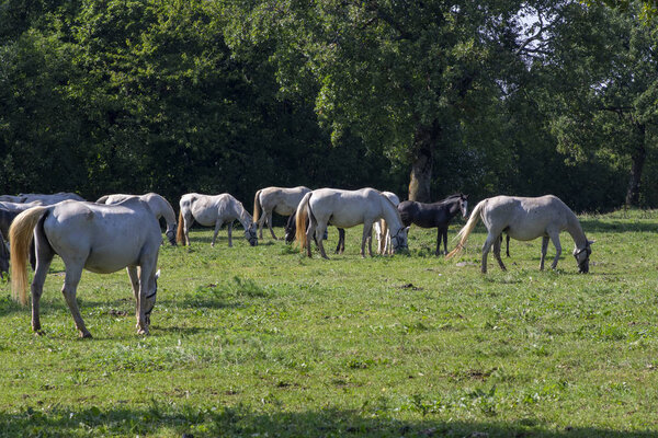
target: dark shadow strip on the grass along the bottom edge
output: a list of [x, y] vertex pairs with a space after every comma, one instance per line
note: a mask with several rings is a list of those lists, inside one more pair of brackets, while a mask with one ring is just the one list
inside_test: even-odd
[[554, 429], [535, 418], [517, 422], [399, 420], [337, 408], [302, 413], [252, 412], [243, 406], [200, 407], [159, 404], [101, 411], [25, 407], [0, 413], [0, 436], [144, 435], [186, 437], [655, 437], [655, 430], [621, 431], [597, 427]]

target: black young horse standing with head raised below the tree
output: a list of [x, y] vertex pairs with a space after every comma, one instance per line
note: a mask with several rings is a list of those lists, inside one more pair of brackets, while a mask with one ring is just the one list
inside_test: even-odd
[[467, 216], [468, 195], [458, 193], [433, 204], [405, 200], [398, 205], [398, 211], [405, 227], [411, 223], [420, 228], [436, 227], [436, 251], [434, 254], [439, 255], [440, 253], [441, 238], [443, 238], [444, 253], [447, 254], [447, 226], [458, 211], [462, 211], [463, 217]]

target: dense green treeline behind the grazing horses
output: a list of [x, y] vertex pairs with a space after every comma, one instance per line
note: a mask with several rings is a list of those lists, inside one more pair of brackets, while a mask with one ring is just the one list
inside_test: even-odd
[[0, 192], [657, 206], [658, 32], [637, 11], [0, 0]]

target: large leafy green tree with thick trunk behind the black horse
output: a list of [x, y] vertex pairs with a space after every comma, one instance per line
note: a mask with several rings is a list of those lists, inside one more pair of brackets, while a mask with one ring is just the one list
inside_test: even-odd
[[429, 200], [436, 149], [499, 94], [499, 37], [518, 4], [485, 1], [228, 2], [232, 44], [273, 39], [282, 91], [314, 95], [320, 122], [411, 166]]

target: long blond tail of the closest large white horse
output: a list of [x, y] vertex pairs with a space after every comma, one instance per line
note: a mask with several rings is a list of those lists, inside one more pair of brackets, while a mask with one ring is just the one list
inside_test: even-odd
[[14, 300], [25, 306], [27, 303], [27, 254], [32, 243], [34, 227], [44, 216], [48, 207], [33, 207], [11, 222], [9, 242], [11, 246], [11, 293]]

